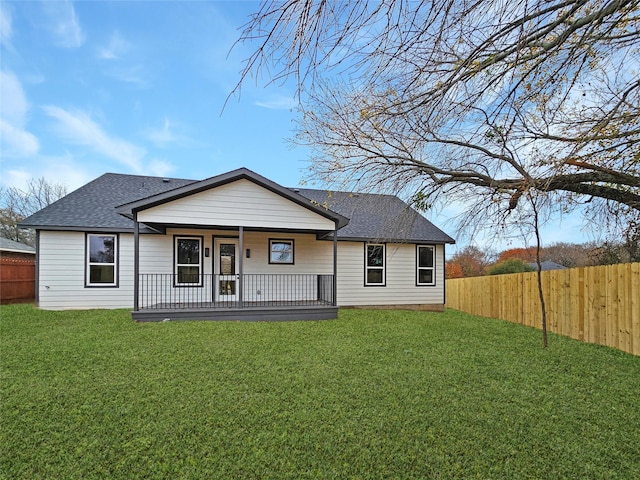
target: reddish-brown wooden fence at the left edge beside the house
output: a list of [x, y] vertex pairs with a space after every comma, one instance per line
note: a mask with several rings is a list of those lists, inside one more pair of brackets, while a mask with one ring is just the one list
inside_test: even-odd
[[33, 301], [36, 291], [36, 261], [0, 258], [0, 303]]

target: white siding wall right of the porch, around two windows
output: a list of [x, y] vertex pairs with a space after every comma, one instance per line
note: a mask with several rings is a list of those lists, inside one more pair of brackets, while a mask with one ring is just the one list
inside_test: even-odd
[[444, 248], [436, 246], [435, 286], [416, 286], [416, 246], [387, 244], [386, 285], [364, 286], [365, 244], [338, 244], [338, 305], [444, 304]]

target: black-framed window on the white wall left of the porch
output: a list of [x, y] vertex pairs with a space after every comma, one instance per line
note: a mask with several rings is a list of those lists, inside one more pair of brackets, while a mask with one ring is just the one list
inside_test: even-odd
[[88, 287], [118, 286], [118, 237], [117, 235], [93, 234], [86, 237]]

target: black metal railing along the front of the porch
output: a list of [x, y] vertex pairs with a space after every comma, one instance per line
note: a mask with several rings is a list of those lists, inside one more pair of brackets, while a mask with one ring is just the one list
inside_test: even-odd
[[[194, 309], [335, 305], [333, 275], [140, 274], [138, 308]], [[180, 283], [189, 280], [191, 283]]]

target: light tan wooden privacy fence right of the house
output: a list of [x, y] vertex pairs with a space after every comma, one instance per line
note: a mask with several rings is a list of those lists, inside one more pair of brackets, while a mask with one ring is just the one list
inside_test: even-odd
[[[640, 355], [640, 263], [542, 272], [550, 332]], [[446, 306], [542, 328], [537, 272], [446, 281]]]

